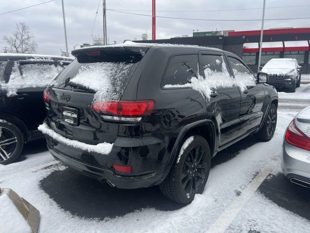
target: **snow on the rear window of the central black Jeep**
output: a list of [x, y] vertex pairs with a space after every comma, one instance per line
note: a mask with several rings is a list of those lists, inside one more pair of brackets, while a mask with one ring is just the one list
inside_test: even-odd
[[138, 63], [98, 62], [85, 64], [70, 80], [96, 91], [94, 100], [113, 100], [122, 94]]

